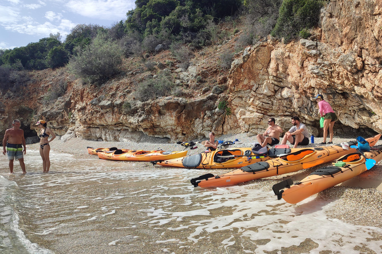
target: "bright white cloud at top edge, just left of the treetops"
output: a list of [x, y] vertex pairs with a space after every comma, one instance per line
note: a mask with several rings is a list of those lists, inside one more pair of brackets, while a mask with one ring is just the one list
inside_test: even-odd
[[105, 20], [123, 19], [126, 12], [135, 7], [134, 0], [70, 0], [65, 4], [82, 16]]

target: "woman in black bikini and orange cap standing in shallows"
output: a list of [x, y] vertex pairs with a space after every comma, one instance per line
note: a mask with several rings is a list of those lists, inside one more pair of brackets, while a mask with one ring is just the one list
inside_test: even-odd
[[[49, 142], [56, 138], [56, 135], [53, 131], [46, 127], [46, 122], [40, 120], [36, 124], [40, 128], [40, 155], [42, 158], [42, 173], [48, 173], [50, 168], [49, 152], [50, 146]], [[49, 135], [52, 135], [52, 138], [48, 141]]]

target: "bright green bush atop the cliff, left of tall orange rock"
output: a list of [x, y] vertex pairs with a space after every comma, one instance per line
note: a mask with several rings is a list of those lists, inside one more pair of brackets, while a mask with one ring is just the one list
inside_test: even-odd
[[320, 0], [284, 0], [279, 18], [271, 34], [288, 42], [295, 38], [303, 28], [311, 28], [318, 24]]

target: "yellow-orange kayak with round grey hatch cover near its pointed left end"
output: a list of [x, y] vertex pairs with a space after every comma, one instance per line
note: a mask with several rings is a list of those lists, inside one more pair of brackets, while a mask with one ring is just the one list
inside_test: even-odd
[[281, 154], [298, 151], [301, 148], [270, 148], [268, 149], [268, 155], [263, 156], [254, 154], [251, 149], [250, 147], [222, 149], [161, 161], [156, 164], [194, 169], [241, 168], [257, 161], [266, 161]]

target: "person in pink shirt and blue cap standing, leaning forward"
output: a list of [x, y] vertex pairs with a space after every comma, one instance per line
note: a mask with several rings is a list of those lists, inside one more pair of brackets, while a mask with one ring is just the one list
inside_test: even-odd
[[316, 99], [318, 102], [318, 108], [319, 113], [321, 117], [324, 117], [324, 140], [320, 144], [326, 144], [326, 136], [328, 135], [328, 128], [329, 128], [329, 137], [330, 141], [328, 144], [333, 144], [333, 126], [334, 123], [337, 121], [336, 113], [334, 113], [332, 107], [328, 102], [324, 100], [324, 97], [321, 94], [318, 94], [313, 99]]

